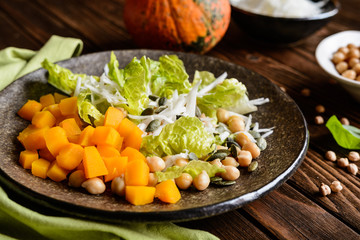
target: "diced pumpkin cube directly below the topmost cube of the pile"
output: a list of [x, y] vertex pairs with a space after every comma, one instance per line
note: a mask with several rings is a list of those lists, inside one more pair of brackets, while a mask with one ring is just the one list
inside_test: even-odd
[[123, 138], [120, 134], [112, 127], [98, 126], [95, 128], [92, 136], [93, 143], [97, 146], [109, 145], [116, 149], [120, 149]]

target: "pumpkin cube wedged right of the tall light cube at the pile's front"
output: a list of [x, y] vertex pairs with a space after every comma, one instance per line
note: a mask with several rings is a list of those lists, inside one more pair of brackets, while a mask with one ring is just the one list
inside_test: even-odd
[[109, 172], [105, 175], [105, 182], [111, 181], [125, 173], [128, 163], [127, 157], [103, 157], [103, 160]]

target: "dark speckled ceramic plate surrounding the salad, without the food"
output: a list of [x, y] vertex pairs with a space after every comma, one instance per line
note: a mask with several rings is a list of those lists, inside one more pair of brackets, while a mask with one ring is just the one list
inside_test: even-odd
[[[154, 50], [125, 50], [115, 52], [120, 67], [134, 56], [146, 55], [158, 59], [160, 55], [174, 52]], [[53, 93], [55, 88], [46, 83], [46, 71], [41, 69], [15, 81], [0, 92], [0, 179], [26, 201], [44, 208], [61, 211], [78, 217], [104, 221], [183, 221], [208, 217], [239, 208], [269, 193], [286, 181], [305, 157], [309, 135], [306, 122], [295, 102], [264, 77], [244, 67], [216, 58], [186, 53], [176, 53], [187, 72], [208, 70], [216, 76], [227, 72], [229, 77], [242, 81], [248, 88], [250, 99], [268, 97], [270, 102], [259, 107], [253, 119], [261, 127], [275, 126], [267, 138], [268, 147], [258, 158], [259, 168], [249, 174], [241, 170], [237, 184], [213, 187], [202, 192], [182, 191], [176, 204], [158, 200], [144, 206], [132, 206], [124, 199], [105, 192], [99, 196], [87, 194], [83, 189], [73, 189], [66, 183], [34, 177], [18, 164], [21, 145], [17, 134], [29, 123], [16, 115], [28, 100]], [[100, 75], [108, 62], [110, 52], [100, 52], [73, 58], [60, 63], [76, 73]]]

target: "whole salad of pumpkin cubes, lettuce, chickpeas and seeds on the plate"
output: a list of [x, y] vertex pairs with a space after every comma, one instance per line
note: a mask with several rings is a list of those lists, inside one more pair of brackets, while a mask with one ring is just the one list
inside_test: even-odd
[[[179, 189], [236, 184], [239, 168], [256, 170], [273, 132], [251, 115], [269, 99], [249, 100], [226, 72], [190, 79], [176, 55], [133, 58], [120, 69], [111, 53], [101, 76], [42, 65], [48, 83], [68, 96], [47, 94], [19, 110], [31, 121], [18, 136], [20, 164], [91, 194], [110, 188], [134, 205], [176, 203]], [[33, 144], [35, 136], [41, 141]]]

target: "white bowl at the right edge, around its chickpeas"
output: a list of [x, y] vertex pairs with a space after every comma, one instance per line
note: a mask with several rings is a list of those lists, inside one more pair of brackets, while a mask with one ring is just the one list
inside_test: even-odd
[[344, 31], [323, 39], [316, 48], [315, 57], [320, 67], [347, 90], [350, 95], [360, 102], [360, 81], [341, 76], [331, 61], [332, 56], [340, 47], [353, 43], [360, 46], [360, 31]]

